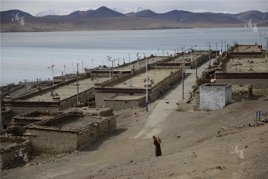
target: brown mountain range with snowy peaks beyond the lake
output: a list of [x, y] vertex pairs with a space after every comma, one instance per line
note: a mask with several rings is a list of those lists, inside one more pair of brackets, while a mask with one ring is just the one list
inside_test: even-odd
[[[130, 9], [129, 9], [130, 10]], [[80, 9], [68, 15], [32, 16], [20, 10], [1, 11], [1, 32], [25, 31], [73, 31], [73, 30], [138, 30], [138, 29], [175, 29], [208, 27], [244, 27], [245, 22], [256, 23], [258, 27], [268, 26], [268, 13], [251, 10], [243, 13], [194, 13], [172, 10], [156, 13], [138, 7], [129, 13], [120, 13], [115, 9], [99, 7]], [[127, 11], [124, 11], [127, 12]], [[25, 25], [18, 25], [12, 17], [24, 16]]]

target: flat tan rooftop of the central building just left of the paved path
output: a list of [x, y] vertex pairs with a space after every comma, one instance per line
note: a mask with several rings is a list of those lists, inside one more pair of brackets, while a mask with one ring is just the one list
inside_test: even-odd
[[[148, 85], [151, 84], [150, 80], [154, 80], [154, 83], [152, 86], [156, 85], [158, 82], [160, 82], [161, 80], [163, 80], [165, 77], [168, 77], [171, 73], [171, 71], [178, 71], [179, 69], [155, 69], [155, 70], [148, 70], [148, 78], [149, 78], [149, 82]], [[131, 85], [132, 87], [138, 87], [138, 88], [144, 88], [144, 85], [146, 85], [146, 81], [144, 82], [144, 80], [146, 80], [146, 72], [142, 73], [142, 74], [138, 74], [132, 78], [130, 78], [131, 80]], [[125, 76], [125, 84], [124, 83], [120, 83], [117, 85], [113, 86], [114, 88], [132, 88], [128, 86], [128, 75]]]

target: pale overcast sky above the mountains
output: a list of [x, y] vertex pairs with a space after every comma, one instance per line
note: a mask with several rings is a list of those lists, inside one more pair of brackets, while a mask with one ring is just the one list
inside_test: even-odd
[[0, 1], [1, 11], [18, 9], [24, 12], [30, 13], [31, 15], [35, 15], [39, 12], [46, 11], [48, 9], [56, 9], [56, 10], [72, 10], [80, 7], [101, 7], [105, 6], [108, 8], [122, 8], [126, 9], [142, 7], [143, 9], [151, 9], [151, 10], [198, 10], [205, 9], [209, 12], [211, 11], [230, 11], [233, 13], [240, 13], [249, 10], [258, 10], [260, 12], [267, 12], [268, 10], [268, 1], [267, 0], [210, 0], [210, 1], [178, 1], [178, 0], [162, 0], [162, 1]]

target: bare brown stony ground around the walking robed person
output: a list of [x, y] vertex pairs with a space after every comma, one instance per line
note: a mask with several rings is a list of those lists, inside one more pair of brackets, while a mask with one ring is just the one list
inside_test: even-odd
[[148, 114], [145, 108], [132, 108], [114, 111], [118, 129], [80, 151], [32, 153], [28, 162], [1, 171], [1, 178], [267, 178], [268, 125], [235, 128], [247, 125], [250, 117], [255, 121], [257, 110], [267, 118], [268, 89], [253, 94], [249, 101], [233, 101], [218, 111], [192, 111], [192, 104], [183, 101], [172, 106], [159, 133], [162, 156], [155, 157], [151, 138], [132, 138]]

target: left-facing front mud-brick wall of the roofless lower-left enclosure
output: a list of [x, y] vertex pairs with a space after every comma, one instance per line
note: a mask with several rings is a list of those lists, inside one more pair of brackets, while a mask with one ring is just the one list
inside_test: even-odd
[[[77, 132], [45, 128], [27, 128], [32, 149], [36, 152], [59, 154], [77, 150]], [[36, 135], [36, 136], [33, 136]]]

